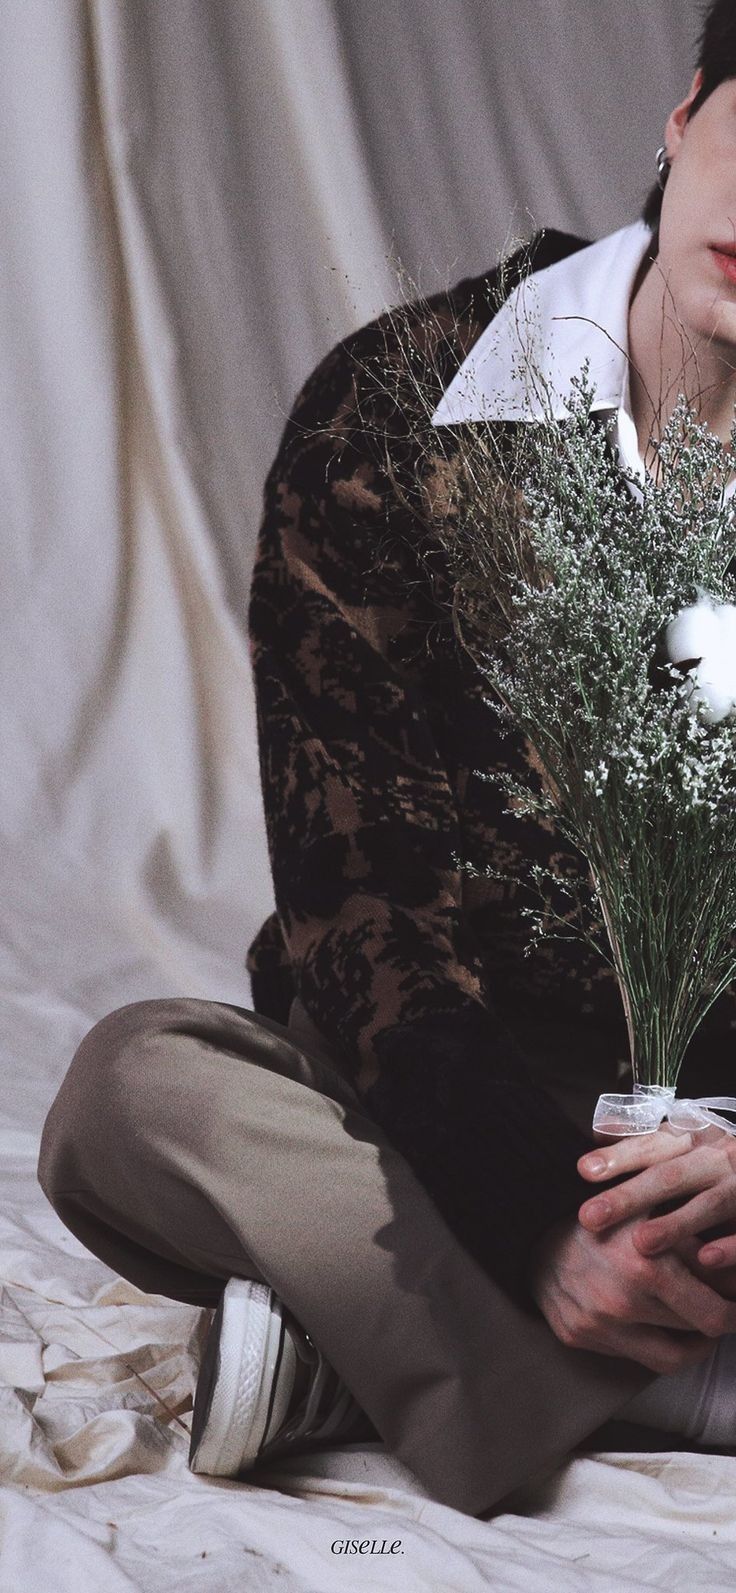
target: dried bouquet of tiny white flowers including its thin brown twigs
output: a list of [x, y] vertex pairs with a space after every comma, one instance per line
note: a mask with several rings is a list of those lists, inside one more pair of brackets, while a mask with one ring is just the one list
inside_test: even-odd
[[[538, 424], [435, 429], [464, 352], [457, 327], [432, 301], [384, 327], [387, 357], [381, 365], [379, 349], [373, 387], [363, 384], [376, 408], [362, 421], [374, 422], [405, 508], [430, 526], [427, 570], [437, 575], [440, 548], [456, 634], [502, 723], [535, 749], [543, 789], [481, 773], [513, 798], [507, 812], [551, 817], [589, 870], [567, 887], [588, 910], [578, 930], [551, 913], [548, 871], [530, 868], [545, 902], [542, 914], [523, 910], [532, 941], [580, 933], [612, 962], [634, 1078], [674, 1085], [736, 975], [736, 720], [706, 723], [693, 669], [663, 661], [661, 648], [696, 591], [736, 596], [723, 495], [736, 430], [723, 448], [680, 398], [658, 427], [656, 479], [632, 492], [593, 409], [588, 368], [564, 419], [550, 401]], [[408, 478], [409, 454], [419, 467]]]

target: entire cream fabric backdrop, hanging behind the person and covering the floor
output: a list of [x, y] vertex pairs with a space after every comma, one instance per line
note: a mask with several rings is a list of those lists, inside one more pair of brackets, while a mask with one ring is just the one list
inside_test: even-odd
[[[296, 1517], [271, 1504], [271, 1528], [247, 1493], [266, 1547], [242, 1582], [242, 1488], [191, 1478], [153, 1415], [153, 1386], [186, 1408], [193, 1313], [116, 1282], [35, 1188], [94, 1018], [170, 992], [249, 1002], [271, 887], [245, 604], [298, 386], [395, 299], [397, 261], [433, 290], [537, 226], [594, 237], [636, 215], [696, 27], [691, 0], [0, 0], [3, 1587], [32, 1585], [30, 1532], [54, 1590], [129, 1587], [131, 1566], [137, 1587], [190, 1587], [198, 1532], [220, 1544], [198, 1588], [263, 1587], [266, 1561], [280, 1587], [344, 1585], [327, 1540], [362, 1536], [376, 1501], [392, 1531], [374, 1532], [398, 1513], [414, 1544], [403, 1588], [511, 1587], [510, 1536], [513, 1585], [546, 1593], [553, 1552], [556, 1587], [585, 1558], [607, 1588], [626, 1509], [647, 1587], [696, 1587], [695, 1547], [679, 1580], [652, 1512], [720, 1496], [717, 1461], [618, 1496], [609, 1548], [593, 1481], [567, 1517], [570, 1491], [462, 1531], [397, 1477], [393, 1494], [295, 1485], [317, 1504], [293, 1540]], [[108, 1520], [143, 1497], [145, 1550]], [[714, 1520], [709, 1545], [728, 1539]], [[733, 1587], [712, 1555], [709, 1587]]]

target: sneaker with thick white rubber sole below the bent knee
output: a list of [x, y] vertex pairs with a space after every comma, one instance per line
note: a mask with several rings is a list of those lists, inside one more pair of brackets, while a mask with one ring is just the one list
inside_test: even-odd
[[239, 1477], [261, 1458], [378, 1434], [266, 1284], [231, 1278], [217, 1306], [191, 1416], [190, 1469]]

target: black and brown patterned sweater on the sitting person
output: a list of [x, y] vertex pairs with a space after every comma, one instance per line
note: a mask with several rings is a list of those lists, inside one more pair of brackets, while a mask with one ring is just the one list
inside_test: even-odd
[[[540, 234], [507, 263], [503, 292], [529, 261], [580, 247]], [[475, 773], [529, 777], [534, 750], [500, 734], [456, 644], [443, 561], [427, 559], [446, 464], [433, 470], [417, 449], [397, 397], [406, 327], [433, 408], [494, 301], [489, 272], [362, 328], [314, 371], [285, 427], [250, 599], [277, 911], [249, 972], [268, 1016], [285, 1023], [299, 996], [462, 1243], [524, 1298], [532, 1244], [589, 1193], [575, 1161], [591, 1136], [545, 1093], [545, 1066], [589, 1080], [591, 1107], [617, 1088], [628, 1042], [604, 959], [581, 940], [526, 956], [524, 886], [460, 865], [580, 871], [550, 820], [505, 812], [508, 796]], [[699, 1039], [712, 1058], [715, 1035], [730, 1061], [723, 1002]]]

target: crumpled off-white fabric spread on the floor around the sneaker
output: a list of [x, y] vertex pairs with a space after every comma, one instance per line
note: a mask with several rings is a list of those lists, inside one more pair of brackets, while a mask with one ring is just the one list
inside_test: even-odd
[[[427, 1499], [379, 1446], [293, 1459], [260, 1486], [194, 1477], [209, 1313], [91, 1257], [35, 1182], [35, 1136], [3, 1137], [3, 1590], [734, 1587], [734, 1462], [722, 1456], [577, 1458], [494, 1521]], [[346, 1539], [401, 1552], [335, 1553]]]

